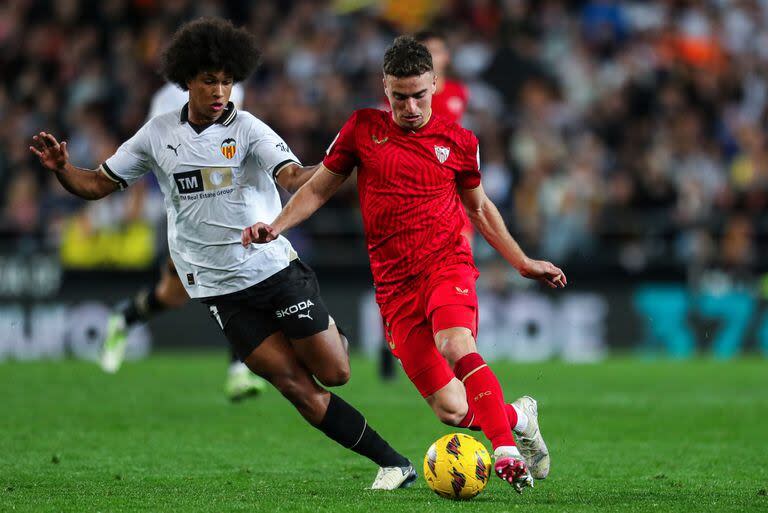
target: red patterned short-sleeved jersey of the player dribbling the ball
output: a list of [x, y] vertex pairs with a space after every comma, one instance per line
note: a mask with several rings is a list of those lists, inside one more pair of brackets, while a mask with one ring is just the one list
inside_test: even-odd
[[323, 164], [357, 187], [376, 299], [387, 302], [407, 280], [434, 266], [472, 261], [461, 235], [458, 188], [480, 185], [477, 137], [432, 114], [426, 125], [401, 128], [389, 112], [355, 111]]

